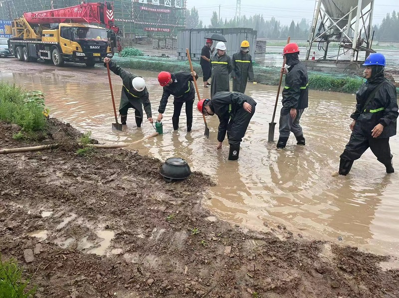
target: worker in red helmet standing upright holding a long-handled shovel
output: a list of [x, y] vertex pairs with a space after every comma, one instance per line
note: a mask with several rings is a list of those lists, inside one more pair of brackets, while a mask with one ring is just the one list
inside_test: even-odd
[[308, 107], [308, 72], [305, 64], [299, 61], [299, 47], [296, 43], [288, 43], [283, 50], [285, 86], [282, 92], [282, 108], [280, 111], [277, 148], [284, 148], [292, 131], [297, 145], [305, 145], [302, 127], [299, 124], [302, 113]]

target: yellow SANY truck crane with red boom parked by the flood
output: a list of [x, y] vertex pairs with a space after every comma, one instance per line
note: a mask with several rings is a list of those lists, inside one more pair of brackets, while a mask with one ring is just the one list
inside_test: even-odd
[[25, 12], [12, 21], [11, 30], [10, 50], [19, 61], [43, 59], [55, 66], [75, 62], [88, 67], [102, 63], [105, 57], [113, 57], [120, 31], [114, 25], [110, 2]]

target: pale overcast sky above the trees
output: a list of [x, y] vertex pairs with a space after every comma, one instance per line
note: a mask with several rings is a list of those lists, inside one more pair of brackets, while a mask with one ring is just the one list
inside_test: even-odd
[[[220, 17], [223, 20], [234, 17], [236, 0], [187, 0], [187, 8], [195, 6], [206, 26], [210, 24], [212, 12], [219, 12], [219, 4]], [[310, 21], [313, 18], [314, 8], [315, 0], [241, 0], [241, 15], [245, 14], [248, 17], [263, 14], [266, 20], [274, 16], [283, 25], [289, 25], [292, 20], [300, 21], [302, 17]], [[387, 13], [394, 9], [399, 11], [399, 0], [375, 0], [373, 23], [381, 23]]]

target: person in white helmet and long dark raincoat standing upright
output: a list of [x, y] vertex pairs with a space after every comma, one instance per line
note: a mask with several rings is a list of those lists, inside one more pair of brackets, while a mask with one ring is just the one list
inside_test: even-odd
[[216, 92], [230, 91], [230, 82], [228, 74], [231, 73], [233, 65], [231, 58], [226, 54], [226, 46], [224, 42], [219, 41], [216, 44], [216, 54], [210, 59], [212, 65], [212, 76], [210, 82], [210, 98]]

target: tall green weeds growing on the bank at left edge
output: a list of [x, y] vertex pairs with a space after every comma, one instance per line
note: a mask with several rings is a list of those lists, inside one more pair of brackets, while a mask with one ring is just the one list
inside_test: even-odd
[[32, 132], [44, 129], [48, 114], [40, 91], [26, 92], [15, 85], [0, 83], [0, 120]]

